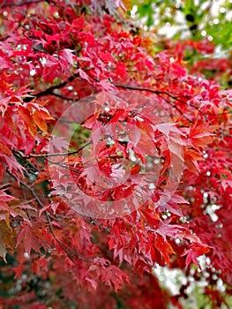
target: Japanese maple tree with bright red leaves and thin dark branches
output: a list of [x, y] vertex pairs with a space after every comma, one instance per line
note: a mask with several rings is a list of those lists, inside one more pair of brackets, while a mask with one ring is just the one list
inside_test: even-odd
[[165, 266], [227, 305], [232, 93], [127, 6], [0, 2], [4, 308], [181, 308]]

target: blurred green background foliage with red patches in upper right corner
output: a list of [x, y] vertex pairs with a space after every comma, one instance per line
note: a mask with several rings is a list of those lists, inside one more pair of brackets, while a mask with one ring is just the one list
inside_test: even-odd
[[[133, 0], [129, 13], [157, 36], [158, 49], [167, 49], [169, 40], [185, 42], [183, 60], [191, 73], [202, 73], [207, 79], [217, 76], [222, 87], [231, 86], [231, 0]], [[202, 46], [198, 49], [189, 41], [201, 41]]]

